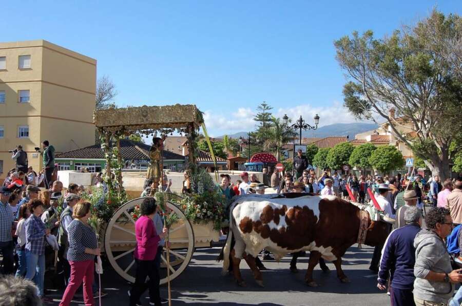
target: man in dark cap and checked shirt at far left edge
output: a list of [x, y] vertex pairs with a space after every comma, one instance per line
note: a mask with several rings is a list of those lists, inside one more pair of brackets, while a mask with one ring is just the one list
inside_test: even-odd
[[14, 272], [13, 263], [13, 237], [11, 230], [13, 228], [14, 217], [8, 207], [11, 190], [7, 187], [0, 187], [0, 251], [3, 256], [3, 273], [11, 274]]

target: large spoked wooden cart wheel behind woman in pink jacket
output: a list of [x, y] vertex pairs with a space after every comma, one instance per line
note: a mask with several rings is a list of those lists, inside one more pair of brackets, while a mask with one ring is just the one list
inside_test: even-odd
[[[124, 279], [134, 282], [136, 265], [133, 251], [136, 246], [134, 223], [131, 213], [137, 205], [141, 205], [144, 198], [137, 198], [126, 202], [111, 217], [104, 236], [104, 247], [112, 268]], [[167, 202], [171, 213], [176, 213], [179, 221], [171, 226], [170, 238], [170, 280], [178, 277], [188, 266], [194, 253], [194, 232], [185, 214], [175, 204]], [[166, 248], [161, 255], [161, 284], [167, 282]]]

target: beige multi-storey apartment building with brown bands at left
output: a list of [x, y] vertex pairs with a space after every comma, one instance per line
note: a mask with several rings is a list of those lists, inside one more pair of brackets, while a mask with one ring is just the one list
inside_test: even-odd
[[94, 144], [96, 72], [95, 59], [46, 40], [0, 43], [0, 182], [17, 145], [38, 172], [41, 141], [56, 152]]

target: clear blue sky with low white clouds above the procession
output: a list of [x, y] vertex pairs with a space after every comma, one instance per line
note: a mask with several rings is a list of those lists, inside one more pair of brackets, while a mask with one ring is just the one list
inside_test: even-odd
[[[349, 123], [333, 41], [413, 24], [441, 1], [2, 1], [0, 40], [46, 39], [98, 60], [118, 106], [196, 104], [209, 134], [252, 129], [255, 108]], [[308, 119], [310, 118], [310, 119]]]

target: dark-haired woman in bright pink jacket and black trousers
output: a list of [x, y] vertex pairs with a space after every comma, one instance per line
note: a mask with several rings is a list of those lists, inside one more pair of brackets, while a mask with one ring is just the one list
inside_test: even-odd
[[[137, 273], [135, 282], [128, 296], [130, 306], [141, 305], [140, 296], [149, 288], [149, 304], [161, 306], [159, 293], [159, 270], [154, 259], [157, 254], [159, 241], [164, 238], [167, 229], [157, 234], [152, 221], [157, 214], [156, 200], [152, 197], [145, 198], [140, 206], [141, 217], [135, 223], [135, 234], [137, 237], [137, 247], [134, 250], [134, 258], [137, 262]], [[149, 281], [146, 282], [146, 277]]]

